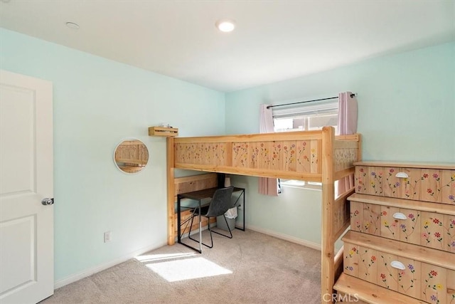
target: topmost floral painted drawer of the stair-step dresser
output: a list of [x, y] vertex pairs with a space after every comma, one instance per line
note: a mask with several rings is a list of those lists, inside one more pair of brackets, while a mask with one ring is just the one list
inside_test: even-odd
[[355, 192], [455, 204], [455, 170], [356, 165]]

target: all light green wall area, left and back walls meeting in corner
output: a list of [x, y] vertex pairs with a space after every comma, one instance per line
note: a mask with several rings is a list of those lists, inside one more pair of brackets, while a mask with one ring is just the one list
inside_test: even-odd
[[[146, 131], [160, 122], [182, 136], [257, 133], [261, 103], [351, 90], [363, 159], [455, 162], [455, 43], [227, 94], [4, 29], [0, 46], [2, 69], [54, 85], [56, 281], [166, 243], [166, 142]], [[132, 176], [112, 161], [127, 137], [151, 156]], [[320, 243], [321, 192], [275, 198], [257, 194], [255, 177], [232, 184], [247, 187], [247, 227]]]

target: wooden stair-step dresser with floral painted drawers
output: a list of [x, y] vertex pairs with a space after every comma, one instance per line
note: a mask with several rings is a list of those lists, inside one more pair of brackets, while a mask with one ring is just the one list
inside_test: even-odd
[[455, 164], [355, 163], [338, 300], [455, 304]]

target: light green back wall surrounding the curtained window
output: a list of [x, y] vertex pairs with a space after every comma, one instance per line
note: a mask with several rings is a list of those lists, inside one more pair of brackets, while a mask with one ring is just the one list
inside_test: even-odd
[[[262, 103], [347, 90], [358, 94], [364, 160], [455, 162], [455, 43], [228, 93], [226, 132], [259, 132]], [[284, 188], [278, 198], [263, 196], [257, 194], [257, 178], [233, 177], [232, 183], [239, 180], [249, 189], [247, 225], [321, 243], [320, 195]]]

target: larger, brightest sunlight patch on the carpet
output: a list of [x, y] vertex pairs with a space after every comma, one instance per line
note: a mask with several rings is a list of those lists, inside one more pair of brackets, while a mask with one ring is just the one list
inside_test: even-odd
[[205, 258], [185, 258], [177, 261], [149, 263], [146, 266], [168, 282], [232, 273]]

